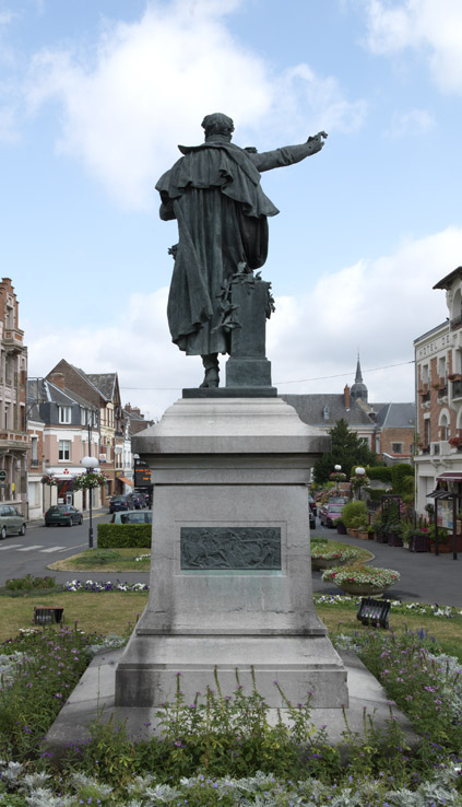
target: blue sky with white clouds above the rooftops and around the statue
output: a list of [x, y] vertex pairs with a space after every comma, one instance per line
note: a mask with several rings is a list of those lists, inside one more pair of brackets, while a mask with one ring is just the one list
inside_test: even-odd
[[201, 383], [154, 186], [223, 112], [259, 151], [329, 134], [262, 176], [273, 384], [342, 393], [359, 352], [370, 401], [413, 400], [462, 264], [461, 101], [460, 0], [0, 0], [0, 274], [28, 375], [117, 371], [154, 419]]

